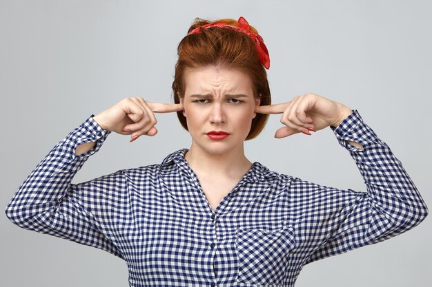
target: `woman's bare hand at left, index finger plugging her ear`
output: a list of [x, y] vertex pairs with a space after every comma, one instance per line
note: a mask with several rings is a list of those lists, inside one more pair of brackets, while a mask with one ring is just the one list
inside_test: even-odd
[[93, 116], [102, 129], [130, 134], [130, 142], [139, 136], [155, 136], [157, 120], [154, 113], [182, 111], [182, 104], [151, 103], [144, 98], [124, 98], [109, 109]]

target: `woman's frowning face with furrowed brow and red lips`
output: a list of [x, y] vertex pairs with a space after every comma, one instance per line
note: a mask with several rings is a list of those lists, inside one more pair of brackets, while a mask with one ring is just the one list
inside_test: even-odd
[[186, 71], [184, 87], [181, 101], [193, 140], [191, 149], [243, 154], [243, 142], [259, 105], [249, 76], [230, 68], [202, 67]]

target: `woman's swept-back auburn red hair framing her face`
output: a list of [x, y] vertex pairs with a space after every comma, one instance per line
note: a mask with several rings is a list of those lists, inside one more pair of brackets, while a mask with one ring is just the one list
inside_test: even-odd
[[[223, 22], [228, 25], [237, 26], [234, 19], [222, 19], [210, 22], [203, 19], [195, 19], [188, 32], [208, 23]], [[257, 30], [251, 26], [251, 32]], [[188, 34], [177, 47], [179, 59], [175, 65], [175, 75], [173, 81], [174, 102], [180, 103], [180, 98], [184, 97], [184, 74], [188, 69], [199, 67], [218, 66], [228, 67], [245, 72], [253, 83], [253, 93], [255, 98], [260, 98], [260, 105], [271, 104], [270, 87], [268, 85], [267, 73], [264, 66], [259, 61], [255, 42], [243, 32], [227, 28], [205, 28], [199, 33]], [[186, 118], [182, 111], [177, 111], [177, 117], [181, 125], [188, 130]], [[251, 131], [246, 140], [250, 140], [259, 135], [264, 129], [268, 115], [257, 114], [252, 120]]]

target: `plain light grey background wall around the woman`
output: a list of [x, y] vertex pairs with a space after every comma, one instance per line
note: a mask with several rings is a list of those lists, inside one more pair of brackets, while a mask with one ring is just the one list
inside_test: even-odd
[[[244, 16], [270, 51], [273, 103], [314, 92], [359, 110], [431, 207], [431, 12], [431, 1], [1, 0], [0, 205], [90, 114], [126, 96], [170, 103], [177, 43], [195, 17]], [[130, 144], [110, 135], [74, 182], [189, 147], [175, 114], [158, 120], [154, 138]], [[276, 140], [279, 126], [271, 116], [247, 142], [250, 160], [328, 186], [365, 188], [330, 129]], [[431, 222], [305, 266], [296, 286], [431, 286]], [[0, 286], [128, 286], [117, 257], [18, 228], [4, 213], [0, 224]]]

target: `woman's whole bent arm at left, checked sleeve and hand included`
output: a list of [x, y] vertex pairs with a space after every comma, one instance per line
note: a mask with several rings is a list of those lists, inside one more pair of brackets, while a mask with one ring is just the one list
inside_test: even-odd
[[106, 228], [92, 214], [92, 206], [99, 206], [98, 211], [105, 214], [113, 212], [108, 209], [115, 206], [104, 202], [127, 190], [124, 174], [119, 171], [84, 184], [71, 184], [72, 178], [88, 157], [100, 149], [110, 131], [131, 134], [131, 141], [143, 134], [153, 136], [157, 133], [153, 111], [179, 109], [181, 105], [127, 98], [88, 118], [30, 173], [6, 207], [6, 215], [22, 228], [95, 246], [122, 257]]

